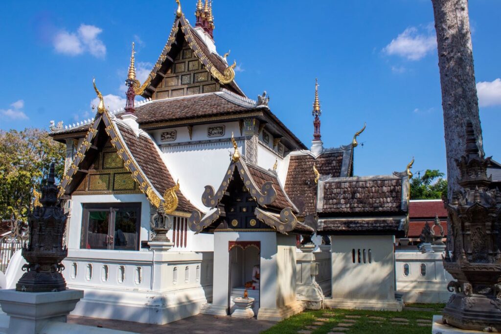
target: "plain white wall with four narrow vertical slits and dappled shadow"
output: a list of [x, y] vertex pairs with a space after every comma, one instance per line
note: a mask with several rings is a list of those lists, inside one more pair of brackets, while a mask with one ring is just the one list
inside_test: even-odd
[[[331, 237], [332, 297], [341, 299], [394, 300], [395, 257], [393, 236]], [[355, 249], [355, 263], [352, 250]], [[358, 263], [358, 249], [362, 253]], [[366, 262], [363, 250], [366, 250]], [[368, 251], [371, 250], [371, 263]]]

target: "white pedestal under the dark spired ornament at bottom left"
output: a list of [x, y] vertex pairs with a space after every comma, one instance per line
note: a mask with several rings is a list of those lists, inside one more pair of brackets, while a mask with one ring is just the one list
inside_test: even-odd
[[21, 292], [0, 290], [2, 310], [11, 318], [8, 333], [38, 333], [48, 321], [66, 322], [84, 291]]

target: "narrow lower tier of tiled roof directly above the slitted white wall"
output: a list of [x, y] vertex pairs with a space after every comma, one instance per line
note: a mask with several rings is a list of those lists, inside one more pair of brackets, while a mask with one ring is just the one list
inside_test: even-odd
[[322, 219], [319, 222], [320, 232], [364, 232], [364, 233], [395, 233], [400, 234], [405, 232], [405, 224], [402, 218], [356, 218], [356, 219], [343, 219], [332, 218]]

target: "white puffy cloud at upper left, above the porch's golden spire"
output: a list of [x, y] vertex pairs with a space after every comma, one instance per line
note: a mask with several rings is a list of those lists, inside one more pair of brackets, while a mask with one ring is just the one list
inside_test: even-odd
[[94, 57], [104, 58], [106, 46], [98, 39], [98, 35], [103, 30], [96, 26], [80, 25], [76, 33], [61, 31], [54, 37], [54, 48], [56, 52], [77, 56], [88, 52]]

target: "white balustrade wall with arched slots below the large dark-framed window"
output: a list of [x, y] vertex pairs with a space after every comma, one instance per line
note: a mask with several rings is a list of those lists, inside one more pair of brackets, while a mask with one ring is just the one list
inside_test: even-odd
[[159, 324], [198, 314], [212, 298], [212, 261], [211, 252], [71, 249], [63, 275], [85, 291], [72, 314]]

